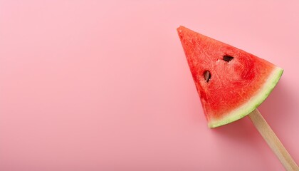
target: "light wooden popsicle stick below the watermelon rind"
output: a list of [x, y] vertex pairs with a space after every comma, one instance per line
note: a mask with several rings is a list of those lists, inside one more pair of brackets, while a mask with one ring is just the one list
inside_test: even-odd
[[271, 147], [272, 151], [276, 154], [280, 162], [283, 164], [285, 170], [299, 171], [298, 165], [295, 163], [288, 151], [285, 150], [285, 147], [283, 147], [283, 144], [280, 142], [280, 140], [270, 128], [258, 109], [253, 110], [253, 112], [248, 116], [253, 122], [253, 125], [256, 126], [258, 132], [262, 135], [263, 139], [266, 140], [269, 147]]

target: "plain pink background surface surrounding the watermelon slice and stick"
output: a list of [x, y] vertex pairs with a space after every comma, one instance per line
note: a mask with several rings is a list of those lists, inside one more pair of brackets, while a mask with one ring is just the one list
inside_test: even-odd
[[298, 1], [0, 1], [0, 170], [283, 170], [210, 130], [179, 25], [285, 69], [259, 108], [299, 162]]

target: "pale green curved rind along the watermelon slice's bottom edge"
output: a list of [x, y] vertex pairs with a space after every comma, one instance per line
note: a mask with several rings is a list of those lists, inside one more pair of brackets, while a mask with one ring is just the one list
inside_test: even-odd
[[267, 81], [263, 84], [261, 89], [258, 90], [258, 93], [256, 93], [256, 95], [254, 95], [250, 100], [248, 100], [247, 103], [231, 111], [231, 113], [225, 114], [223, 118], [217, 120], [211, 118], [211, 120], [209, 120], [208, 123], [209, 128], [216, 128], [221, 125], [232, 123], [236, 120], [245, 117], [253, 110], [256, 110], [256, 108], [258, 108], [258, 106], [261, 105], [261, 103], [263, 103], [263, 101], [266, 100], [266, 98], [268, 98], [268, 95], [276, 86], [282, 75], [283, 69], [276, 67], [271, 73], [271, 75], [268, 76]]

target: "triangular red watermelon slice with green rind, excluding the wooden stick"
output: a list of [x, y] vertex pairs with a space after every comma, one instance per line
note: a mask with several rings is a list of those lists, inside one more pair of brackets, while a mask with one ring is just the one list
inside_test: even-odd
[[278, 83], [283, 69], [246, 51], [177, 28], [209, 128], [255, 110]]

